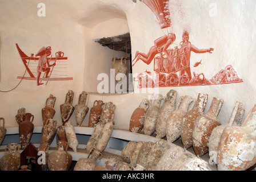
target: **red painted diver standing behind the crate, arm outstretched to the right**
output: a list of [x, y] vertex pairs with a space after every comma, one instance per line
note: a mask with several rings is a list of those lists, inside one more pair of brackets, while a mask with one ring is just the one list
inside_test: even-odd
[[[190, 51], [193, 51], [195, 53], [206, 53], [206, 52], [209, 52], [209, 53], [212, 53], [211, 51], [213, 51], [214, 49], [213, 48], [209, 48], [209, 49], [198, 49], [197, 47], [195, 47], [193, 44], [191, 44], [189, 42], [189, 33], [187, 31], [184, 31], [183, 32], [183, 35], [182, 35], [182, 42], [181, 42], [181, 49], [183, 48], [188, 48], [190, 49]], [[190, 67], [187, 67], [185, 69], [182, 69], [180, 72], [179, 72], [179, 76], [182, 76], [186, 74], [187, 76], [189, 76], [189, 80], [191, 80], [191, 72], [190, 72]]]

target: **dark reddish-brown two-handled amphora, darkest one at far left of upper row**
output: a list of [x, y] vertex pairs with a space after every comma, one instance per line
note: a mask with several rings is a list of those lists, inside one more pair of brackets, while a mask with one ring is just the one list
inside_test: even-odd
[[24, 150], [29, 144], [34, 130], [34, 115], [31, 113], [25, 114], [25, 121], [19, 123], [19, 142], [21, 143], [21, 150]]

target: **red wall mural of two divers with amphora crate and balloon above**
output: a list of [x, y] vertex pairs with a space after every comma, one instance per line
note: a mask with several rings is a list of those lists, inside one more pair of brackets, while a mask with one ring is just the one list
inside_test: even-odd
[[[169, 0], [143, 0], [157, 16], [158, 23], [161, 28], [171, 26]], [[195, 86], [195, 85], [215, 85], [242, 82], [237, 72], [231, 65], [227, 65], [225, 69], [219, 71], [210, 79], [205, 78], [203, 73], [195, 73], [190, 71], [190, 53], [212, 53], [214, 48], [198, 49], [189, 42], [189, 32], [184, 30], [182, 41], [179, 46], [170, 48], [176, 39], [175, 34], [168, 33], [154, 40], [152, 46], [147, 53], [137, 51], [133, 59], [133, 66], [139, 61], [149, 65], [154, 60], [154, 72], [157, 73], [154, 78], [150, 71], [140, 73], [134, 78], [138, 82], [138, 88], [165, 87], [165, 86]], [[198, 61], [193, 67], [202, 64], [202, 60]]]

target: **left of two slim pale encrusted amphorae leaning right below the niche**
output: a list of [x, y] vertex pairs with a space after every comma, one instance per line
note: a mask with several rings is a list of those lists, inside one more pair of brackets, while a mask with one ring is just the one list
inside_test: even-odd
[[89, 138], [89, 140], [86, 144], [86, 152], [87, 153], [89, 153], [93, 148], [96, 147], [96, 144], [99, 139], [99, 135], [101, 135], [101, 131], [104, 126], [105, 126], [105, 123], [102, 121], [99, 121], [97, 124], [94, 125], [93, 133], [91, 134], [91, 137]]

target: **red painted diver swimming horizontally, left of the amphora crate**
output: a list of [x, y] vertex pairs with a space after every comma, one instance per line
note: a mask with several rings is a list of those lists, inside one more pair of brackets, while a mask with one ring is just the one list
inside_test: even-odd
[[[173, 44], [175, 41], [175, 34], [169, 33], [168, 35], [164, 35], [161, 38], [158, 38], [154, 41], [155, 46], [152, 46], [147, 54], [137, 51], [133, 60], [133, 66], [137, 63], [138, 60], [142, 60], [144, 63], [149, 65], [154, 59], [157, 53], [165, 53], [167, 57], [169, 57], [169, 52], [167, 52], [167, 48]], [[137, 59], [136, 59], [137, 58]]]

